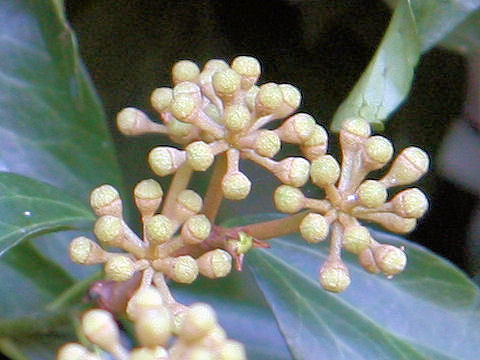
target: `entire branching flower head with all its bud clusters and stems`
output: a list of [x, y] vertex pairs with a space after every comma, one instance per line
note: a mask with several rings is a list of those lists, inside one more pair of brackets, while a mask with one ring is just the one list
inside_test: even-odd
[[[369, 173], [390, 163], [394, 149], [389, 140], [372, 135], [363, 119], [345, 119], [339, 134], [339, 163], [327, 154], [326, 130], [312, 116], [295, 113], [301, 103], [298, 89], [290, 84], [258, 86], [260, 73], [258, 60], [248, 56], [239, 56], [230, 65], [210, 60], [203, 69], [182, 60], [172, 69], [173, 88], [158, 88], [151, 95], [161, 123], [135, 108], [118, 114], [122, 133], [165, 134], [178, 147], [158, 146], [148, 155], [155, 174], [174, 175], [165, 199], [153, 179], [141, 181], [134, 189], [142, 236], [126, 224], [118, 191], [102, 185], [90, 196], [98, 216], [93, 232], [100, 245], [85, 237], [70, 245], [73, 261], [102, 263], [107, 279], [138, 283], [133, 295], [124, 299], [138, 348], [127, 350], [121, 345], [118, 328], [106, 310], [90, 310], [82, 320], [88, 340], [117, 359], [244, 359], [242, 345], [226, 337], [213, 310], [206, 304], [178, 303], [167, 281], [191, 283], [199, 274], [224, 277], [232, 260], [240, 268], [252, 245], [265, 246], [259, 240], [274, 238], [285, 229], [299, 231], [309, 243], [330, 239], [319, 281], [332, 292], [344, 291], [351, 281], [342, 249], [357, 255], [371, 273], [392, 277], [405, 268], [403, 249], [378, 243], [361, 221], [378, 223], [395, 233], [414, 229], [428, 208], [425, 195], [408, 188], [388, 199], [388, 191], [423, 176], [429, 166], [426, 153], [408, 147], [383, 177], [369, 179]], [[282, 143], [297, 145], [303, 156], [278, 159]], [[273, 201], [288, 216], [231, 229], [215, 224], [223, 198], [243, 200], [255, 185], [242, 172], [242, 159], [278, 179]], [[202, 199], [187, 187], [193, 171], [206, 171], [212, 165]], [[319, 188], [321, 198], [303, 194], [300, 188], [308, 181]], [[123, 252], [108, 251], [110, 247]], [[67, 344], [58, 359], [102, 357], [83, 345]]]

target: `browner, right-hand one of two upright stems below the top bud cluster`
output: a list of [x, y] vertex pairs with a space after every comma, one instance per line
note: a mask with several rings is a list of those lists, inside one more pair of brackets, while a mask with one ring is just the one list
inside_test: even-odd
[[222, 179], [227, 171], [227, 159], [225, 154], [217, 157], [213, 167], [210, 183], [208, 184], [207, 192], [203, 201], [203, 213], [210, 220], [211, 223], [217, 217], [218, 209], [223, 200]]

